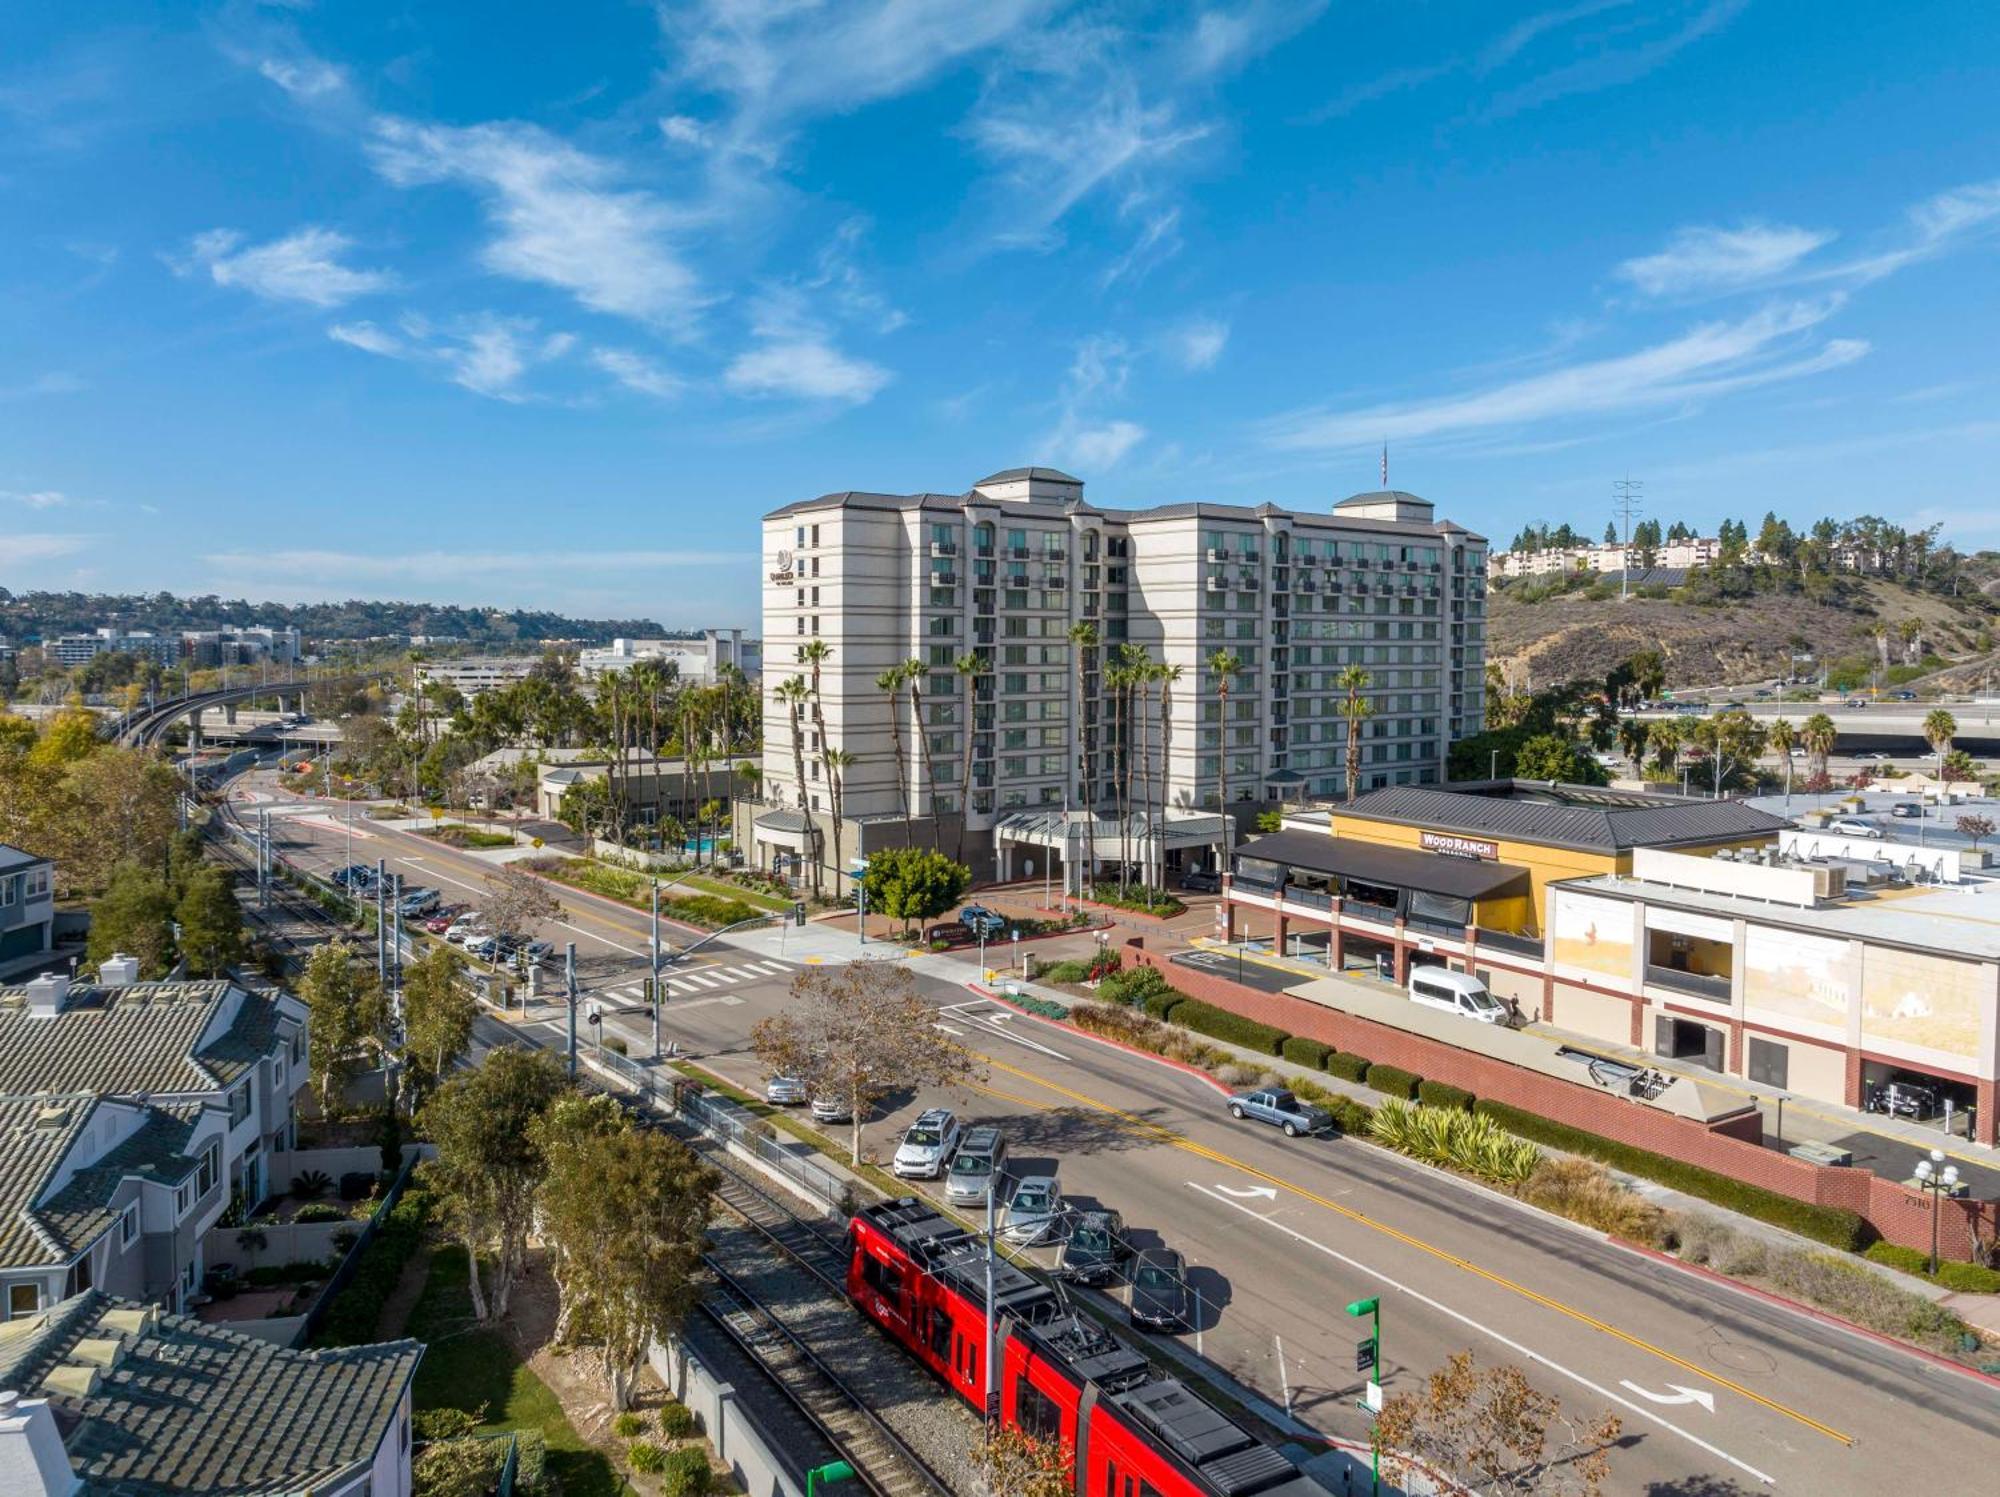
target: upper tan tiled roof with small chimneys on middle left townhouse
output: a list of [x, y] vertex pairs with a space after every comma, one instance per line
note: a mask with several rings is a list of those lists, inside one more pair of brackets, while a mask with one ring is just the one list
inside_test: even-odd
[[[220, 1033], [218, 1013], [236, 995]], [[272, 1051], [296, 999], [234, 983], [72, 983], [62, 1011], [28, 1013], [28, 989], [0, 987], [0, 1093], [178, 1095], [214, 1091]]]

